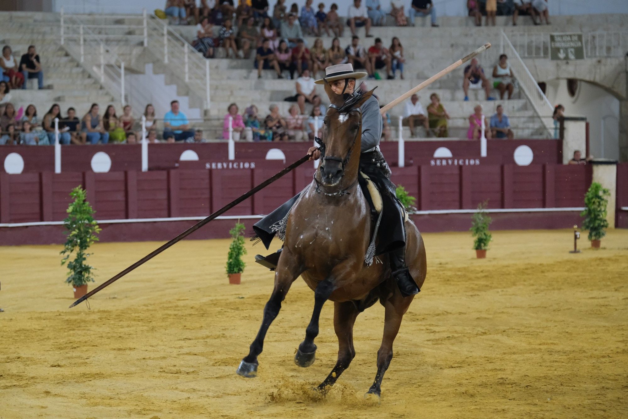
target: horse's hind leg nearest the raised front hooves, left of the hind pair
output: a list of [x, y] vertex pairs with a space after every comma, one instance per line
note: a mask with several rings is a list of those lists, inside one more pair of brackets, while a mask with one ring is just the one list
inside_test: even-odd
[[327, 390], [333, 386], [340, 374], [349, 368], [349, 364], [355, 357], [353, 327], [355, 318], [359, 313], [351, 301], [334, 303], [333, 305], [333, 329], [338, 337], [338, 360], [332, 372], [318, 386], [318, 389], [323, 393], [327, 393]]

